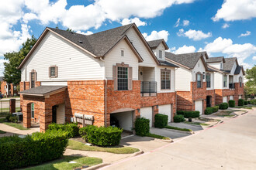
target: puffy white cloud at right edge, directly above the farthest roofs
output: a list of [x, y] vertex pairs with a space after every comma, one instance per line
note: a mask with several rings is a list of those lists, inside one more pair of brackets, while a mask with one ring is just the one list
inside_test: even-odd
[[231, 39], [218, 37], [213, 42], [207, 43], [203, 50], [207, 51], [209, 55], [210, 53], [223, 53], [227, 56], [237, 57], [239, 63], [244, 63], [244, 59], [256, 53], [256, 46], [251, 43], [234, 44]]

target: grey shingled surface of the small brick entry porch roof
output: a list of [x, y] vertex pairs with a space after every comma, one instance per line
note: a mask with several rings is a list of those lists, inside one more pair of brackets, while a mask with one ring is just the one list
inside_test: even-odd
[[67, 88], [66, 86], [40, 86], [31, 88], [29, 90], [23, 90], [19, 93], [21, 94], [31, 94], [31, 95], [38, 95], [38, 96], [44, 96], [47, 93], [52, 93], [56, 90], [61, 90]]

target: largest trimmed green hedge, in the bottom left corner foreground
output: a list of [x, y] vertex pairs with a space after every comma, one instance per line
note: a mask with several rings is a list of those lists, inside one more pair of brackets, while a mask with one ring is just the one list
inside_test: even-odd
[[60, 158], [67, 146], [67, 132], [36, 132], [25, 138], [0, 138], [0, 169], [22, 168]]

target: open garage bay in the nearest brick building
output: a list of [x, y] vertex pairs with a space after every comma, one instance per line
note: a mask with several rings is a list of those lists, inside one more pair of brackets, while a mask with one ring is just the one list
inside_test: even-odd
[[125, 131], [133, 131], [133, 111], [110, 114], [110, 125], [123, 128]]

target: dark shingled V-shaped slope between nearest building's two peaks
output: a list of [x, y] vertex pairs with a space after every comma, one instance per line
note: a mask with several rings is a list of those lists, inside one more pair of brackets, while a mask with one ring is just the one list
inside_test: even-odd
[[76, 45], [93, 53], [95, 56], [104, 56], [112, 46], [116, 45], [121, 38], [123, 38], [123, 33], [126, 32], [133, 24], [126, 26], [120, 26], [114, 29], [109, 29], [106, 31], [94, 33], [92, 35], [85, 36], [83, 34], [78, 34], [74, 32], [68, 32], [61, 29], [48, 28], [57, 34], [64, 36], [64, 38], [69, 39]]

